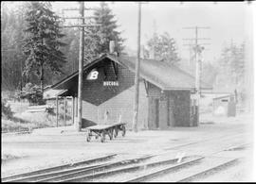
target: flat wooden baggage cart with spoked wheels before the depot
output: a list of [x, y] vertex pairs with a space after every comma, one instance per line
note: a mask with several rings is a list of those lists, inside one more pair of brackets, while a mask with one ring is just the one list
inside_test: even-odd
[[113, 136], [116, 138], [119, 134], [119, 130], [122, 131], [122, 137], [125, 136], [126, 123], [117, 123], [112, 125], [92, 125], [89, 127], [86, 127], [87, 129], [87, 135], [86, 135], [86, 141], [90, 142], [91, 137], [95, 136], [96, 139], [101, 137], [101, 142], [105, 142], [105, 135], [108, 135], [109, 139], [112, 140]]

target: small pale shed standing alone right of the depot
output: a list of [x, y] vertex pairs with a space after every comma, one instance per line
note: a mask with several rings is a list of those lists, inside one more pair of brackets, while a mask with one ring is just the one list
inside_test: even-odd
[[234, 117], [236, 115], [234, 94], [213, 98], [213, 115]]

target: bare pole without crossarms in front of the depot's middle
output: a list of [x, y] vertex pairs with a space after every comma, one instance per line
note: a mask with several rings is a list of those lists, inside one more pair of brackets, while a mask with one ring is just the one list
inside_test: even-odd
[[137, 15], [137, 63], [135, 75], [135, 105], [134, 105], [134, 121], [133, 130], [137, 132], [137, 113], [138, 113], [138, 96], [139, 96], [139, 67], [140, 67], [140, 25], [141, 25], [141, 2], [138, 2]]

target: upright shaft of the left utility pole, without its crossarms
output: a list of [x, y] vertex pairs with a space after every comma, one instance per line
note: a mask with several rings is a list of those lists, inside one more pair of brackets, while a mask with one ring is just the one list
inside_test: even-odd
[[[80, 2], [80, 14], [84, 17], [84, 2]], [[84, 19], [81, 19], [84, 25]], [[79, 82], [78, 82], [78, 121], [76, 122], [77, 131], [82, 127], [82, 66], [83, 66], [83, 48], [84, 48], [84, 26], [80, 27], [80, 53], [79, 53]]]

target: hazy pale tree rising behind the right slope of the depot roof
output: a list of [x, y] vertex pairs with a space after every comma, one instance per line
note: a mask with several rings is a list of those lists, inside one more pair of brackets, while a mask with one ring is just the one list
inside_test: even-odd
[[154, 57], [157, 60], [170, 64], [177, 64], [180, 60], [177, 56], [174, 39], [167, 32], [162, 35], [154, 33], [153, 38], [147, 42], [147, 46], [147, 52], [154, 52]]

